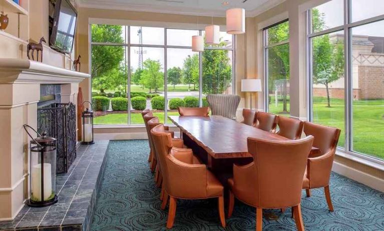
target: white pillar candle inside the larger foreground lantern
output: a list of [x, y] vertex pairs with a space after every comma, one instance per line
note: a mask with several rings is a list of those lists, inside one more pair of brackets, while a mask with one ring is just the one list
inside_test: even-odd
[[[42, 200], [42, 164], [38, 163], [32, 167], [32, 193], [33, 199]], [[52, 194], [51, 164], [44, 163], [44, 200]]]

